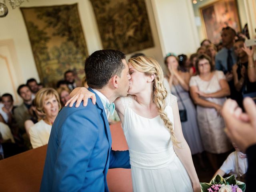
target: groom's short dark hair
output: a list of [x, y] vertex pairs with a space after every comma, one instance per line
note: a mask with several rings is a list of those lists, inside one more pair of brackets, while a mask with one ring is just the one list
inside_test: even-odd
[[101, 89], [112, 76], [121, 77], [125, 68], [122, 59], [125, 59], [125, 54], [112, 49], [98, 50], [88, 56], [84, 64], [88, 86]]

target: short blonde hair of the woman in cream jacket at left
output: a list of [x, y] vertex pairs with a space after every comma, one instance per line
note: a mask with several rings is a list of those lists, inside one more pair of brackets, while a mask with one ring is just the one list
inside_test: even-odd
[[36, 94], [36, 109], [42, 113], [44, 116], [46, 115], [44, 112], [44, 101], [52, 98], [52, 96], [56, 97], [58, 101], [59, 110], [61, 109], [60, 97], [58, 92], [53, 88], [42, 88]]

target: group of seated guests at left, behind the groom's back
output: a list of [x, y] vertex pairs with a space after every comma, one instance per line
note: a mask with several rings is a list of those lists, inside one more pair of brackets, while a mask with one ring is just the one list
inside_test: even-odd
[[[83, 80], [86, 86], [86, 79]], [[64, 73], [55, 88], [43, 88], [34, 78], [18, 86], [22, 104], [14, 106], [13, 96], [0, 97], [0, 159], [48, 143], [52, 124], [76, 88], [74, 72]]]

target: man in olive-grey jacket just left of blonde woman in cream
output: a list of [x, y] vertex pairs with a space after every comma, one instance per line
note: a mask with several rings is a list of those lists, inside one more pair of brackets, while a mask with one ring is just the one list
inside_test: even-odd
[[21, 133], [24, 133], [24, 122], [32, 117], [29, 113], [29, 109], [32, 106], [32, 92], [25, 84], [20, 85], [17, 92], [22, 98], [23, 103], [14, 109], [14, 118], [18, 124]]

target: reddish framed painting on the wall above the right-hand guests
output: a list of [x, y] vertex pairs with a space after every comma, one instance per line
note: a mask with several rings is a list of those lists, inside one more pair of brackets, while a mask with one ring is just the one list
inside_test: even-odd
[[202, 25], [206, 38], [217, 44], [221, 40], [221, 30], [230, 26], [240, 31], [236, 0], [216, 0], [200, 8]]

